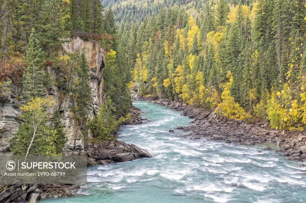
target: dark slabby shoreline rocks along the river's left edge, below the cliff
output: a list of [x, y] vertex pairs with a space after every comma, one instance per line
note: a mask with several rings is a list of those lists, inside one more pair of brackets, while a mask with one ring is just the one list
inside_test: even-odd
[[[140, 124], [145, 122], [141, 118], [140, 109], [132, 106], [127, 113], [132, 115], [132, 120], [124, 124]], [[76, 155], [88, 156], [88, 167], [153, 157], [147, 150], [134, 144], [126, 144], [117, 140], [116, 135], [111, 136], [110, 140], [99, 144], [88, 143], [84, 147], [84, 152], [77, 153]], [[74, 196], [73, 191], [79, 188], [80, 185], [70, 184], [0, 184], [0, 202], [17, 203], [27, 201], [28, 203], [36, 203], [38, 200], [47, 197]]]

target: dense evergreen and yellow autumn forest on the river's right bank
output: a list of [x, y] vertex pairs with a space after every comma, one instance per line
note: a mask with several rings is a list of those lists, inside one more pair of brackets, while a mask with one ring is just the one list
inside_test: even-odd
[[140, 95], [304, 129], [305, 1], [104, 4], [114, 10]]

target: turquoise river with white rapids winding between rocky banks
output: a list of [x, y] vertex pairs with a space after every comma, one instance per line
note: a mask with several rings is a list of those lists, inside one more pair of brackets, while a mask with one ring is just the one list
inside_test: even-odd
[[88, 184], [76, 197], [40, 203], [306, 202], [301, 163], [263, 146], [190, 140], [188, 117], [164, 106], [135, 101], [146, 124], [123, 126], [118, 139], [147, 149], [154, 158], [88, 168]]

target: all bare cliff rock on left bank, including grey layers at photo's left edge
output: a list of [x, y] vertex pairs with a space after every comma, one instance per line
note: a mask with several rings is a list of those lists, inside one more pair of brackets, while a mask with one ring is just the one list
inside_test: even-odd
[[[69, 39], [69, 43], [62, 45], [60, 56], [68, 55], [73, 52], [84, 52], [88, 60], [88, 73], [90, 73], [91, 80], [89, 85], [92, 89], [91, 97], [91, 112], [89, 117], [93, 117], [104, 102], [103, 96], [103, 68], [105, 66], [105, 51], [100, 47], [96, 41], [85, 41], [80, 37]], [[53, 79], [56, 77], [64, 77], [61, 71], [54, 67], [48, 67], [48, 71]], [[10, 91], [6, 92], [6, 96], [0, 98], [0, 155], [8, 155], [9, 140], [14, 137], [18, 126], [20, 115], [19, 105], [20, 101], [17, 99], [20, 96], [20, 88], [12, 84]], [[77, 131], [76, 122], [73, 118], [73, 113], [70, 109], [74, 106], [69, 95], [62, 98], [61, 89], [54, 86], [50, 94], [58, 101], [57, 108], [62, 115], [62, 122], [66, 128], [67, 142], [65, 144], [66, 155], [71, 155], [75, 148], [77, 152], [84, 150], [84, 135]], [[55, 108], [53, 109], [56, 110]], [[90, 133], [89, 133], [90, 136]]]

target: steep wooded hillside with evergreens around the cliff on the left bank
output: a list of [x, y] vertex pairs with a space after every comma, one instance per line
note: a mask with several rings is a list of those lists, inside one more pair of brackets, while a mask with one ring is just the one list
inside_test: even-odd
[[[104, 11], [99, 0], [2, 0], [0, 39], [0, 137], [20, 124], [11, 140], [14, 155], [63, 154], [67, 133], [75, 152], [76, 137], [84, 145], [92, 141], [88, 133], [102, 140], [117, 130], [124, 119], [116, 118], [131, 105], [131, 72], [111, 9]], [[79, 44], [65, 50], [74, 40]], [[0, 148], [7, 150], [4, 141]]]

